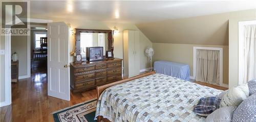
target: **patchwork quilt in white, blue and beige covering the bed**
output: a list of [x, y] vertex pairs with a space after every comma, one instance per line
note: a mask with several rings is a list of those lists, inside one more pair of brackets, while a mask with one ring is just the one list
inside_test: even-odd
[[96, 115], [110, 121], [205, 121], [193, 112], [200, 98], [222, 90], [163, 74], [111, 86], [101, 94]]

